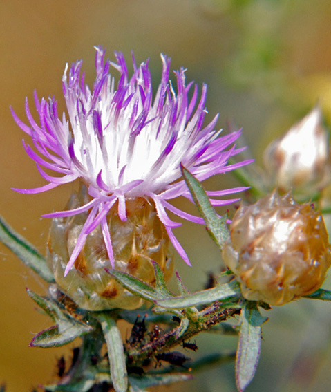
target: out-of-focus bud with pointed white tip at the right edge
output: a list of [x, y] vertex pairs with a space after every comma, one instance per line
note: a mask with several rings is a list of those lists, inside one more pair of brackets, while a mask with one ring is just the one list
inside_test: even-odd
[[328, 134], [322, 124], [321, 109], [316, 106], [283, 138], [274, 140], [263, 154], [272, 187], [281, 192], [311, 194], [327, 183], [330, 171]]

